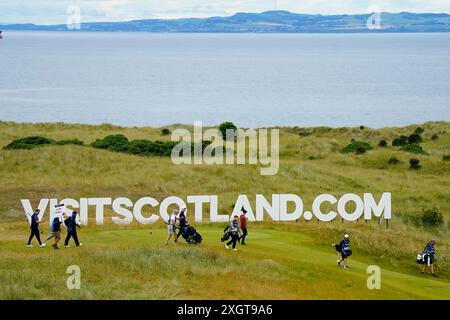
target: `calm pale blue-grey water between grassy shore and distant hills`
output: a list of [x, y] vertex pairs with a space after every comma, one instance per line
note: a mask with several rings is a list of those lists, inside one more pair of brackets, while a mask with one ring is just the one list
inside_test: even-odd
[[0, 120], [450, 121], [450, 34], [7, 32], [0, 61]]

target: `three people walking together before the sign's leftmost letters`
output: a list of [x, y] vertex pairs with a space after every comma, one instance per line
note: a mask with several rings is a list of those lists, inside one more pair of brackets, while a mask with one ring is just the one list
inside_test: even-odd
[[[27, 247], [32, 248], [33, 245], [31, 244], [31, 241], [34, 237], [36, 237], [37, 242], [39, 243], [39, 247], [44, 248], [46, 246], [45, 242], [41, 241], [41, 230], [39, 229], [39, 225], [45, 220], [39, 219], [40, 210], [36, 209], [33, 214], [31, 215], [31, 222], [30, 222], [30, 237], [28, 238]], [[80, 228], [80, 223], [77, 222], [77, 215], [78, 213], [76, 211], [73, 211], [71, 215], [65, 215], [63, 214], [62, 217], [55, 217], [53, 218], [52, 224], [50, 226], [50, 235], [45, 239], [45, 241], [49, 241], [50, 239], [55, 239], [54, 243], [52, 244], [53, 249], [59, 249], [58, 242], [61, 240], [61, 225], [64, 224], [67, 227], [67, 235], [64, 240], [64, 247], [69, 248], [69, 241], [71, 238], [73, 238], [75, 245], [77, 247], [82, 246], [83, 244], [79, 242], [78, 240], [78, 234], [77, 234], [77, 228]]]

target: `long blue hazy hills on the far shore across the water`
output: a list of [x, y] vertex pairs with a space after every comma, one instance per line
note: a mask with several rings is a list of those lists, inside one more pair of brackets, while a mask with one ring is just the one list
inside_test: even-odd
[[[450, 14], [382, 13], [381, 28], [368, 29], [371, 14], [319, 15], [288, 11], [237, 13], [230, 17], [148, 19], [126, 22], [82, 23], [81, 31], [219, 32], [219, 33], [351, 33], [351, 32], [450, 32]], [[67, 31], [66, 25], [10, 24], [0, 30]], [[79, 30], [76, 30], [79, 31]]]

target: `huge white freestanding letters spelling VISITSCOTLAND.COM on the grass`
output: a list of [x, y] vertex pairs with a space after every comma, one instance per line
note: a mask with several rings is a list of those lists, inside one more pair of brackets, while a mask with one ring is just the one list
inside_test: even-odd
[[[320, 221], [332, 221], [340, 217], [346, 221], [356, 221], [360, 218], [370, 220], [372, 216], [391, 219], [391, 194], [385, 192], [380, 200], [376, 201], [371, 193], [364, 193], [359, 196], [354, 193], [344, 194], [339, 199], [331, 194], [322, 194], [316, 197], [312, 203], [311, 210], [304, 210], [303, 201], [295, 194], [273, 194], [271, 199], [267, 199], [261, 194], [254, 198], [255, 206], [250, 204], [247, 195], [239, 195], [236, 199], [234, 209], [230, 214], [219, 214], [217, 195], [194, 195], [187, 196], [186, 199], [171, 196], [159, 202], [153, 197], [143, 197], [133, 202], [129, 198], [81, 198], [75, 199], [41, 199], [37, 208], [40, 209], [40, 218], [45, 215], [47, 208], [50, 208], [50, 220], [57, 214], [55, 206], [64, 204], [65, 207], [77, 209], [80, 213], [80, 222], [88, 223], [89, 214], [93, 208], [96, 224], [104, 223], [104, 212], [106, 207], [110, 207], [114, 212], [111, 221], [116, 224], [130, 224], [134, 220], [141, 224], [152, 224], [160, 218], [167, 221], [169, 218], [169, 207], [176, 206], [180, 210], [191, 204], [196, 222], [207, 220], [209, 222], [225, 222], [239, 214], [241, 208], [247, 210], [249, 221], [263, 221], [266, 216], [273, 221], [295, 221], [300, 218], [311, 220], [316, 217]], [[30, 220], [29, 214], [33, 212], [33, 206], [28, 199], [22, 199], [22, 206]], [[328, 203], [332, 210], [324, 212], [323, 204]], [[352, 204], [354, 210], [348, 212], [347, 205]], [[205, 214], [206, 213], [206, 214]]]

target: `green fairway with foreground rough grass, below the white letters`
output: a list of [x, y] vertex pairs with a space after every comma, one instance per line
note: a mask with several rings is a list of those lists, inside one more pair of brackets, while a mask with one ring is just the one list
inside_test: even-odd
[[[350, 269], [337, 253], [301, 228], [250, 229], [248, 246], [226, 250], [221, 228], [199, 225], [204, 243], [164, 246], [164, 226], [81, 229], [84, 245], [55, 251], [26, 248], [26, 229], [2, 239], [2, 299], [449, 299], [450, 282], [363, 261], [354, 250]], [[19, 238], [22, 238], [19, 240]], [[336, 239], [339, 240], [339, 239]], [[412, 257], [413, 258], [413, 257]], [[411, 264], [413, 264], [413, 259]], [[381, 289], [369, 290], [367, 266], [381, 267]], [[66, 269], [81, 269], [81, 289], [66, 287]]]

